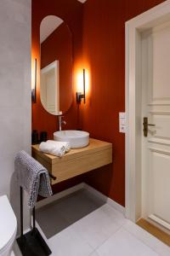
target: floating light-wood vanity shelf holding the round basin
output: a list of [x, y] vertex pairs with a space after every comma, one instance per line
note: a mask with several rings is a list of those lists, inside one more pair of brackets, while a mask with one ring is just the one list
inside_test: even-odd
[[56, 180], [51, 179], [52, 185], [112, 163], [112, 144], [92, 138], [88, 147], [71, 149], [62, 157], [42, 153], [39, 145], [32, 145], [31, 148], [32, 157], [57, 177]]

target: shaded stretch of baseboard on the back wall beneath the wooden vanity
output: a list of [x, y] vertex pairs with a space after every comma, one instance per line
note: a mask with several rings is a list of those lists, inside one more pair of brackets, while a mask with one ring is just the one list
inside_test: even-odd
[[36, 208], [41, 208], [41, 207], [44, 207], [54, 201], [57, 201], [59, 200], [60, 198], [62, 197], [65, 197], [66, 195], [70, 195], [74, 192], [77, 192], [78, 190], [80, 189], [83, 189], [84, 188], [84, 183], [80, 183], [80, 184], [77, 184], [76, 186], [74, 187], [71, 187], [70, 189], [65, 189], [64, 191], [61, 191], [53, 196], [50, 196], [48, 198], [45, 198], [43, 199], [42, 201], [38, 201], [37, 204], [36, 204]]

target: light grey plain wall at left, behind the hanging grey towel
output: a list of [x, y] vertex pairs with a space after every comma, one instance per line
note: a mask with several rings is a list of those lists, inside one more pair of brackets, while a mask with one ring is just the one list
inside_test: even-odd
[[18, 216], [14, 157], [31, 151], [31, 0], [0, 0], [0, 195]]

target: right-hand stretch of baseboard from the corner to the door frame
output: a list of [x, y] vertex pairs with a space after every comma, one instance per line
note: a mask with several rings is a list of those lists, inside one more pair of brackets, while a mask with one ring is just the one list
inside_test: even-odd
[[105, 203], [108, 203], [108, 205], [115, 208], [118, 212], [122, 212], [123, 214], [125, 214], [125, 207], [122, 207], [116, 201], [113, 201], [111, 198], [102, 194], [97, 189], [94, 189], [93, 187], [89, 186], [87, 183], [84, 183], [84, 189], [87, 189], [89, 192], [97, 196], [100, 200], [105, 201]]

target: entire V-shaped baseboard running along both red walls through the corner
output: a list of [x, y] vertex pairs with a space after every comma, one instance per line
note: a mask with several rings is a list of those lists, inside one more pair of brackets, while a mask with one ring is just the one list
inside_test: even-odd
[[99, 192], [97, 189], [94, 189], [93, 187], [89, 186], [87, 183], [80, 183], [77, 184], [74, 187], [71, 187], [70, 189], [65, 189], [64, 191], [59, 192], [58, 194], [55, 194], [51, 197], [48, 197], [46, 199], [43, 199], [42, 201], [38, 201], [36, 208], [44, 207], [54, 201], [59, 200], [60, 198], [70, 195], [74, 192], [77, 192], [80, 189], [87, 189], [90, 193], [98, 197], [101, 201], [104, 201], [105, 203], [108, 203], [111, 207], [114, 207], [117, 211], [122, 212], [125, 214], [125, 207], [122, 207], [119, 205], [116, 201], [113, 201], [111, 198], [107, 197], [106, 195]]

